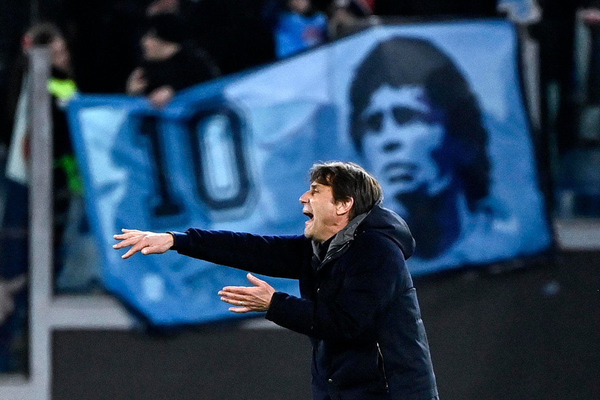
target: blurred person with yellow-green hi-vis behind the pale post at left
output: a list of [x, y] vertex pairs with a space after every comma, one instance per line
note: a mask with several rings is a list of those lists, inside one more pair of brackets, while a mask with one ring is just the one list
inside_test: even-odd
[[[71, 197], [82, 193], [82, 184], [77, 172], [76, 161], [73, 155], [70, 133], [68, 130], [65, 107], [68, 101], [76, 94], [77, 85], [74, 81], [73, 68], [71, 67], [71, 54], [61, 31], [50, 23], [41, 23], [32, 26], [22, 39], [23, 56], [17, 61], [17, 73], [14, 86], [19, 88], [13, 96], [14, 105], [14, 130], [8, 152], [6, 175], [8, 190], [4, 227], [26, 227], [26, 185], [29, 182], [29, 88], [31, 77], [28, 74], [27, 53], [34, 46], [48, 46], [51, 50], [51, 71], [47, 83], [52, 99], [52, 127], [53, 127], [53, 157], [54, 157], [54, 214], [55, 214], [55, 245], [61, 241], [62, 231], [65, 227], [67, 212]], [[16, 210], [22, 209], [23, 213]], [[19, 216], [23, 214], [22, 216]], [[9, 254], [14, 254], [14, 248]], [[13, 257], [11, 255], [10, 257]], [[25, 256], [24, 256], [25, 257]]]

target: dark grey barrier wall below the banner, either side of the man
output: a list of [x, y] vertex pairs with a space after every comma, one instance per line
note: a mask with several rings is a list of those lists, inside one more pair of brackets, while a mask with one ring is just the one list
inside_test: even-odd
[[[442, 400], [600, 399], [600, 252], [416, 281]], [[310, 399], [310, 342], [284, 329], [59, 331], [54, 400]]]

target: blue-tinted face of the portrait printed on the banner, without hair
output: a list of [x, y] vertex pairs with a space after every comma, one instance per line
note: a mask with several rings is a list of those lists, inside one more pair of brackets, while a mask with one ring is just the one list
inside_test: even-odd
[[446, 134], [442, 113], [421, 86], [382, 85], [361, 115], [362, 149], [389, 194], [435, 196], [450, 181], [434, 158]]

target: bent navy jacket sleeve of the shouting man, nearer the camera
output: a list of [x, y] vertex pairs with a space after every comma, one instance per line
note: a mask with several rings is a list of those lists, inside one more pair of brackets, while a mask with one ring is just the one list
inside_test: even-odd
[[337, 294], [321, 299], [317, 292], [311, 301], [275, 293], [266, 318], [317, 339], [372, 340], [377, 316], [392, 306], [397, 289], [403, 290], [397, 286], [412, 282], [402, 251], [385, 236], [364, 233], [352, 247], [343, 255], [343, 283]]

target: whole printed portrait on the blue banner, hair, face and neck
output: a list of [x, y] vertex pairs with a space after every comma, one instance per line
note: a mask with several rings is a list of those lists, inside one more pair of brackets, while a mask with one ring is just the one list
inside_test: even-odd
[[349, 95], [352, 140], [409, 223], [416, 257], [434, 261], [492, 228], [501, 212], [488, 200], [488, 133], [448, 56], [418, 38], [383, 41], [357, 68]]

